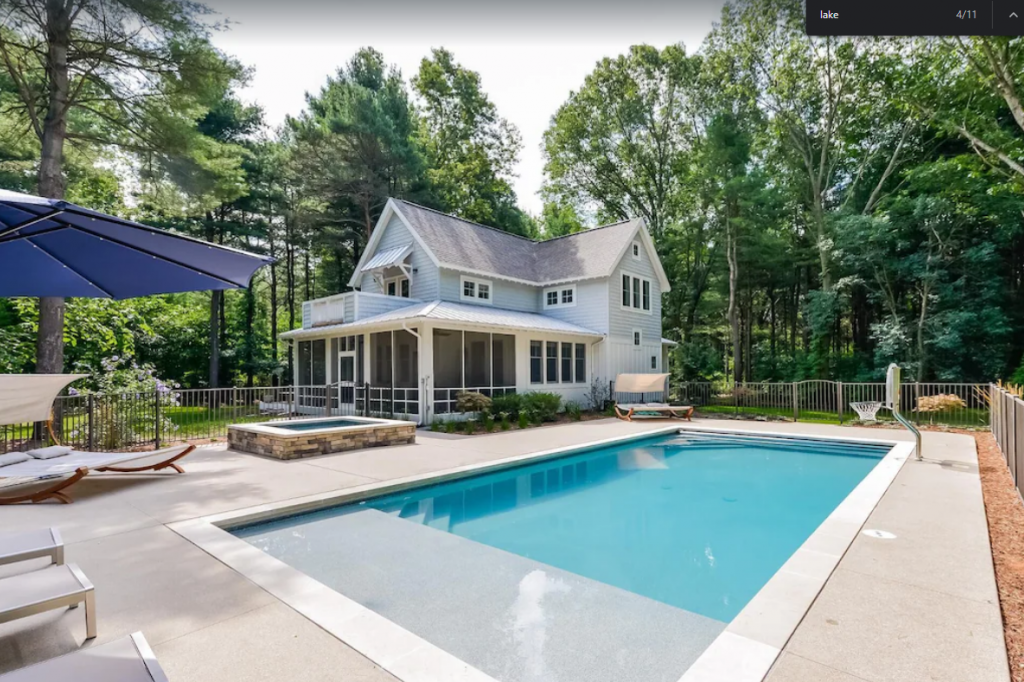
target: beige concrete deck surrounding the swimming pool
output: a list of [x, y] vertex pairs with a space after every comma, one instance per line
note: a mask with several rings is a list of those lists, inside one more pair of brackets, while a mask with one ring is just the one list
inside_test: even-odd
[[[700, 423], [698, 420], [696, 423]], [[908, 439], [900, 431], [703, 421], [721, 429]], [[71, 506], [0, 510], [4, 530], [56, 525], [96, 586], [96, 643], [141, 630], [171, 680], [394, 680], [168, 524], [645, 430], [614, 420], [278, 462], [202, 449], [185, 476], [97, 476]], [[768, 680], [1009, 679], [974, 440], [925, 434], [783, 648]], [[9, 568], [4, 572], [9, 572]], [[0, 672], [79, 647], [76, 611], [0, 626]], [[710, 678], [709, 678], [710, 679]]]

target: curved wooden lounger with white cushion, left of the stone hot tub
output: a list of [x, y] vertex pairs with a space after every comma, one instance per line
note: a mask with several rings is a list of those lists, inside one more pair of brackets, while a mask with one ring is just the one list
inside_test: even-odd
[[[174, 469], [184, 473], [178, 464], [188, 455], [195, 445], [175, 445], [147, 453], [82, 453], [72, 451], [63, 457], [48, 460], [30, 459], [26, 462], [0, 467], [0, 491], [3, 488], [24, 489], [19, 495], [0, 497], [0, 505], [17, 504], [20, 502], [44, 502], [57, 500], [68, 504], [71, 498], [65, 488], [74, 485], [90, 471], [115, 471], [119, 473], [139, 473], [142, 471], [160, 471]], [[139, 460], [158, 461], [137, 466], [125, 466]], [[31, 489], [29, 489], [31, 488]]]

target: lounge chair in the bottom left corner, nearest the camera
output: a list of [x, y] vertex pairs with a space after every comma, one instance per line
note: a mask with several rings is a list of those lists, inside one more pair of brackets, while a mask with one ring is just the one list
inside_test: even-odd
[[150, 643], [136, 632], [113, 642], [0, 675], [0, 682], [168, 682]]

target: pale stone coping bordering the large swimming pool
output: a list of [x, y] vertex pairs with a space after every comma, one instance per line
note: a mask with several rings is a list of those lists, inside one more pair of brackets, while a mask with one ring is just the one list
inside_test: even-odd
[[864, 521], [909, 459], [913, 451], [912, 443], [886, 438], [817, 436], [674, 424], [643, 433], [256, 505], [170, 523], [168, 527], [403, 682], [497, 682], [454, 654], [264, 553], [228, 530], [427, 483], [465, 478], [525, 463], [543, 462], [608, 445], [687, 431], [890, 445], [882, 461], [836, 507], [678, 681], [761, 682]]

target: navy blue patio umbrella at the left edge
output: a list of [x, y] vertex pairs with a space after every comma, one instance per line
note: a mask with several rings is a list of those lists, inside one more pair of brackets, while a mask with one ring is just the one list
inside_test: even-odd
[[0, 189], [0, 297], [242, 289], [273, 259]]

